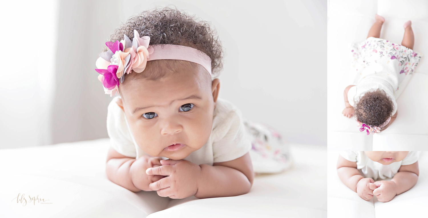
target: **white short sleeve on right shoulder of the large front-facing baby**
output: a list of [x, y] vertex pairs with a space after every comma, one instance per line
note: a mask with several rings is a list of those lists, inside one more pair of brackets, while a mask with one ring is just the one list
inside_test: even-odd
[[251, 150], [251, 141], [247, 136], [241, 111], [223, 99], [217, 100], [216, 108], [212, 132], [214, 163], [244, 156]]

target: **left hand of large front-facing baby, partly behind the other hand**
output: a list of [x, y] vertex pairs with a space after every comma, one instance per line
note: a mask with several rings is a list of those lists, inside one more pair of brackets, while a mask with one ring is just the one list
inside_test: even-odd
[[160, 166], [159, 157], [141, 156], [132, 163], [130, 168], [130, 174], [132, 183], [138, 189], [143, 191], [152, 191], [149, 188], [149, 184], [162, 179], [164, 176], [160, 175], [147, 175], [147, 168]]

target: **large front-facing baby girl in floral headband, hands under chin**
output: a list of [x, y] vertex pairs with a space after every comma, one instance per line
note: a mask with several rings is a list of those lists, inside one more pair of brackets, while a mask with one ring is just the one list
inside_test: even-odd
[[[133, 38], [132, 38], [133, 36]], [[130, 18], [95, 69], [108, 106], [109, 180], [161, 197], [227, 197], [253, 185], [252, 141], [218, 97], [223, 51], [214, 30], [176, 9]]]

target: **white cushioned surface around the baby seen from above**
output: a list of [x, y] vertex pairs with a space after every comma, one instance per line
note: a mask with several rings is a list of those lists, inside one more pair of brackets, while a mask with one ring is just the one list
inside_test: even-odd
[[[360, 133], [342, 110], [351, 85], [350, 46], [366, 39], [375, 14], [383, 16], [380, 37], [401, 44], [403, 24], [412, 21], [414, 50], [422, 53], [416, 71], [397, 99], [398, 116], [382, 133]], [[425, 150], [428, 144], [428, 1], [330, 0], [327, 11], [327, 144], [329, 150]], [[413, 127], [413, 128], [410, 128]]]

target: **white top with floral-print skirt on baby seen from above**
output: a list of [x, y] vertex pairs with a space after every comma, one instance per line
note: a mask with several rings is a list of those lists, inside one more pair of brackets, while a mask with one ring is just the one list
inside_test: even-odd
[[[413, 74], [421, 59], [421, 53], [382, 38], [369, 37], [351, 48], [356, 76], [348, 91], [351, 106], [368, 91], [377, 88], [386, 92], [394, 103], [408, 83], [407, 75]], [[400, 90], [400, 91], [398, 91]]]

